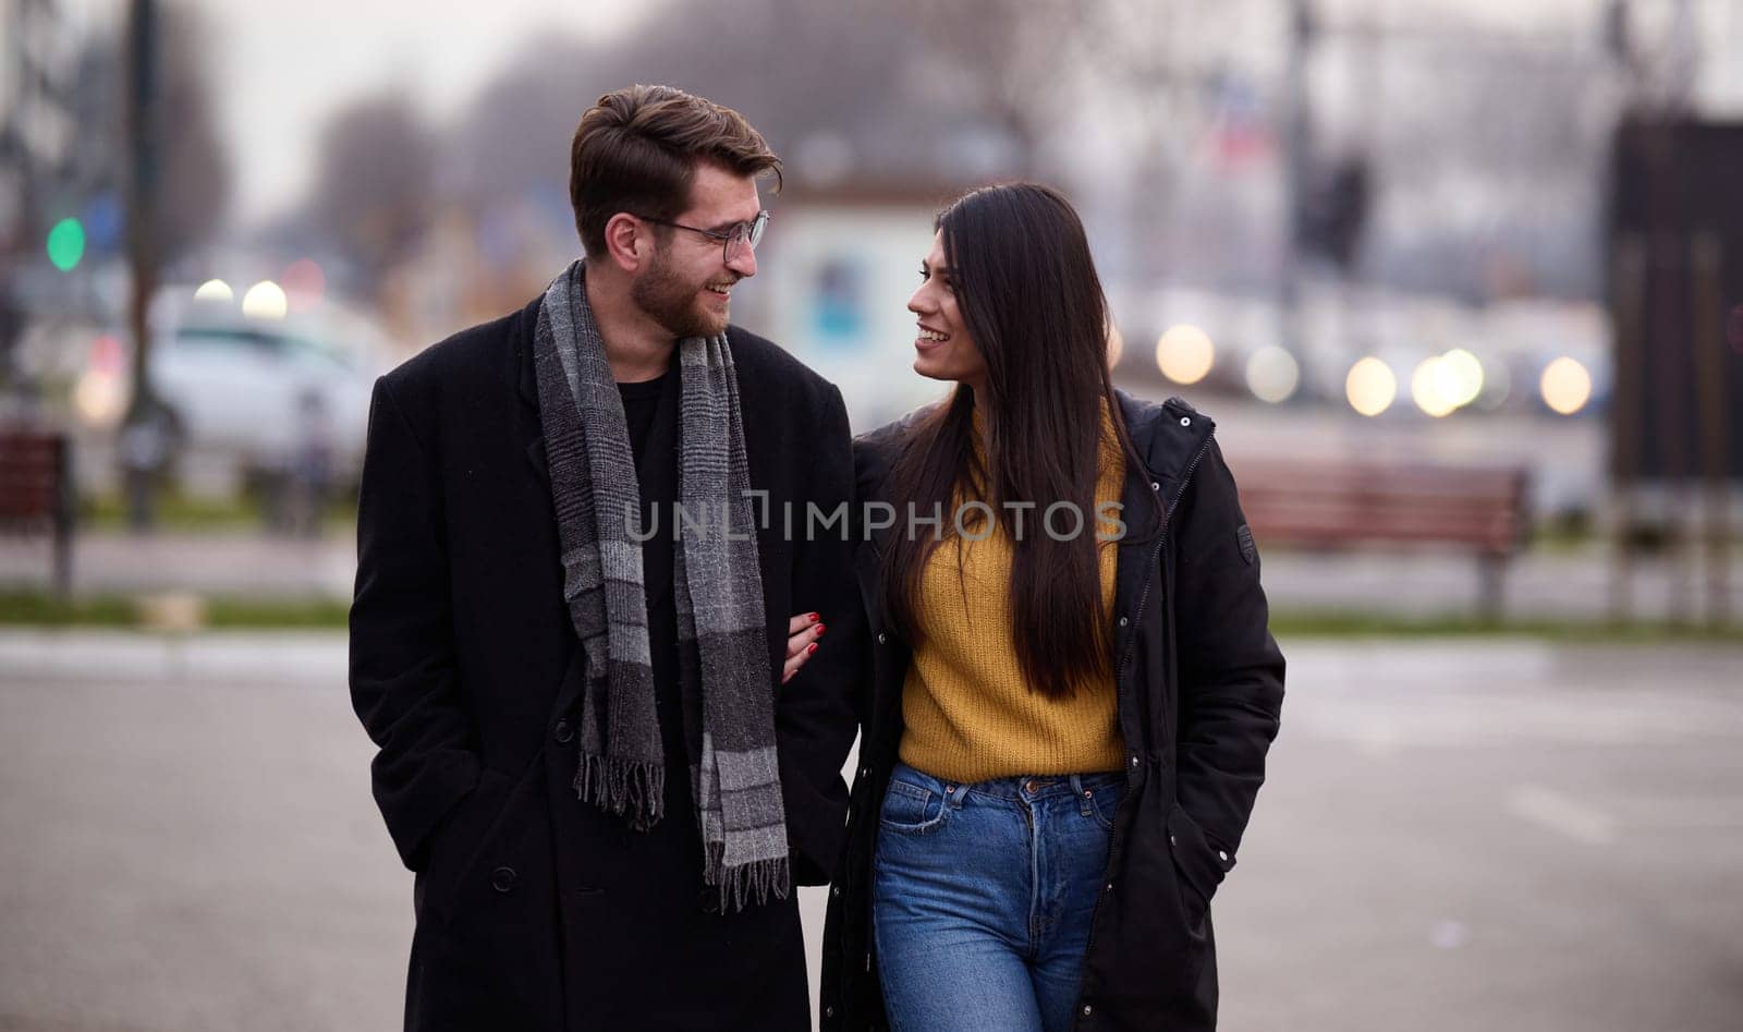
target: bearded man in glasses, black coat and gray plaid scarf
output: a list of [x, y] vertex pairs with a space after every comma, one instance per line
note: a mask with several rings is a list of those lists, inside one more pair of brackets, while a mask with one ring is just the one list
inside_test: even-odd
[[770, 169], [736, 112], [607, 94], [586, 260], [376, 384], [350, 690], [417, 872], [408, 1029], [809, 1027], [863, 615], [845, 533], [783, 519], [851, 499], [840, 392], [727, 324]]

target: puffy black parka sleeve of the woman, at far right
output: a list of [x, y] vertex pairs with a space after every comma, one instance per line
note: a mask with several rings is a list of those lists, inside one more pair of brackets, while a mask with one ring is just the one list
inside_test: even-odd
[[[1265, 779], [1283, 710], [1283, 652], [1269, 629], [1258, 553], [1234, 476], [1211, 441], [1171, 521], [1177, 549], [1180, 809], [1215, 851], [1210, 889], [1234, 852]], [[1203, 858], [1201, 858], [1203, 859]], [[1208, 894], [1206, 894], [1208, 898]]]

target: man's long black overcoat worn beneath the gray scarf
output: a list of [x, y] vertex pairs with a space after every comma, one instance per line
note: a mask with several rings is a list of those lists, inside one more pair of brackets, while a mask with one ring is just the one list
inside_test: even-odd
[[[561, 593], [537, 312], [399, 366], [370, 415], [350, 690], [380, 746], [376, 804], [418, 872], [406, 1025], [804, 1029], [797, 891], [706, 912], [687, 776], [668, 777], [668, 816], [648, 833], [570, 786], [584, 659]], [[847, 415], [770, 342], [737, 328], [729, 340], [751, 486], [769, 492], [758, 551], [793, 877], [821, 884], [842, 844], [863, 615], [845, 519], [809, 542], [804, 528], [807, 504], [851, 499]], [[830, 635], [781, 687], [788, 617], [812, 610]]]

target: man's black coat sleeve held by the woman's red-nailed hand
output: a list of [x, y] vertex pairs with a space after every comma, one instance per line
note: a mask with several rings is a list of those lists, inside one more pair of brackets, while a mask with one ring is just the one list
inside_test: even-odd
[[845, 840], [842, 764], [854, 744], [858, 701], [870, 671], [847, 513], [840, 521], [823, 523], [852, 506], [847, 408], [835, 387], [819, 424], [809, 443], [810, 474], [798, 499], [816, 504], [821, 518], [810, 525], [807, 513], [793, 514], [793, 610], [821, 614], [826, 629], [816, 655], [779, 689], [774, 711], [793, 877], [802, 886], [830, 880]]

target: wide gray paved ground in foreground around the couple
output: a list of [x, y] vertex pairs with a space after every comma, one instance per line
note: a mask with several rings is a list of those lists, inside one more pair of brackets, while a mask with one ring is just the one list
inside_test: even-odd
[[[1285, 645], [1224, 1029], [1738, 1029], [1743, 650]], [[368, 758], [338, 636], [0, 631], [0, 1029], [396, 1027]]]

